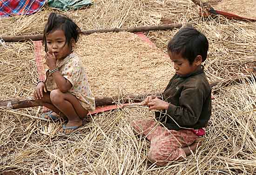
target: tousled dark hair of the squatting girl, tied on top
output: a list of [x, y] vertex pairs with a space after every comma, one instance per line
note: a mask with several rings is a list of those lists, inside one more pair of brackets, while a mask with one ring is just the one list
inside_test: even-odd
[[78, 41], [81, 30], [74, 23], [74, 21], [68, 18], [66, 15], [50, 13], [43, 34], [43, 45], [45, 45], [45, 52], [48, 52], [46, 35], [59, 29], [63, 30], [66, 37], [66, 44], [68, 46], [71, 47], [71, 39], [74, 39], [75, 43]]

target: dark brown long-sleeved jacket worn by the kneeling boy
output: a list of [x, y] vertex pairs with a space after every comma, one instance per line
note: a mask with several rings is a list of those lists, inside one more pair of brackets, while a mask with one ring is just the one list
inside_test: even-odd
[[163, 100], [169, 107], [155, 112], [155, 118], [169, 130], [207, 126], [211, 115], [211, 88], [203, 70], [204, 67], [199, 66], [189, 75], [175, 74], [164, 90]]

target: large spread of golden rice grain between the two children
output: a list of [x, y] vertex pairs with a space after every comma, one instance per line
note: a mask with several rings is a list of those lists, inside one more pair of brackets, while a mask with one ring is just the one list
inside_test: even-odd
[[174, 75], [170, 59], [133, 33], [94, 33], [77, 45], [97, 96], [163, 91]]

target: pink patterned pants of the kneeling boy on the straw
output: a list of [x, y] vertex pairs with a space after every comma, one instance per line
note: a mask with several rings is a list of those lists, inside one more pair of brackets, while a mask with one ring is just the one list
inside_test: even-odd
[[153, 118], [134, 121], [131, 126], [137, 133], [148, 138], [151, 143], [148, 159], [158, 166], [186, 158], [182, 148], [188, 147], [198, 138], [191, 130], [168, 130], [157, 125]]

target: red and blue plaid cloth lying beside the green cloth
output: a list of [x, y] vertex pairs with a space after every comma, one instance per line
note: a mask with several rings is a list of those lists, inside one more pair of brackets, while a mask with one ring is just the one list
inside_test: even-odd
[[38, 12], [46, 0], [0, 0], [0, 16], [28, 15]]

